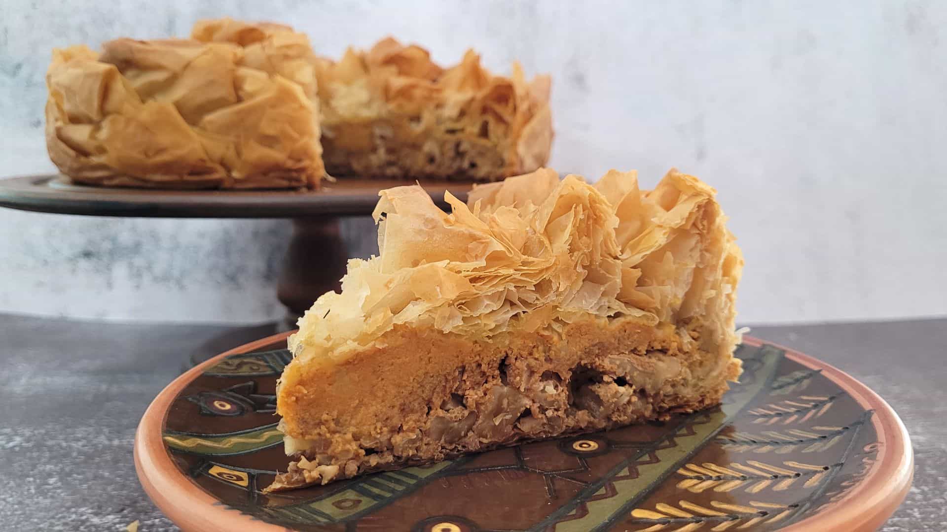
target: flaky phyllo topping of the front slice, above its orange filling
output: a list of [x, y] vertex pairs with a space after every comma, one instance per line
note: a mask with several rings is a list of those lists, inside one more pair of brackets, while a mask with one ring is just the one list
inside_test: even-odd
[[481, 339], [591, 314], [701, 320], [701, 346], [728, 355], [742, 255], [715, 193], [673, 169], [642, 191], [634, 171], [589, 185], [543, 168], [475, 186], [467, 204], [445, 193], [452, 214], [420, 186], [383, 190], [380, 255], [348, 261], [342, 293], [319, 297], [290, 347], [337, 360], [399, 326]]

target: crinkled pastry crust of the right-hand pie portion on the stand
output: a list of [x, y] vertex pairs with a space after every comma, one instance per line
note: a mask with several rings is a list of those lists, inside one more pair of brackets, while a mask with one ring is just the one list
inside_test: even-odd
[[406, 120], [414, 133], [427, 137], [490, 141], [513, 171], [538, 168], [548, 159], [550, 80], [527, 80], [518, 62], [509, 77], [498, 76], [468, 50], [461, 62], [445, 68], [424, 48], [389, 37], [368, 51], [348, 48], [340, 61], [319, 58], [315, 65], [323, 136], [340, 146], [366, 140], [341, 138], [351, 133], [338, 126]]

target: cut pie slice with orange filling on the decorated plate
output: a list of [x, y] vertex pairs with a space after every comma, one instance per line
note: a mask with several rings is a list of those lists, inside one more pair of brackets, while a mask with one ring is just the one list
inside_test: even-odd
[[447, 193], [451, 214], [381, 191], [379, 256], [289, 338], [291, 463], [267, 491], [719, 403], [743, 260], [715, 193], [673, 169], [643, 191], [545, 168]]

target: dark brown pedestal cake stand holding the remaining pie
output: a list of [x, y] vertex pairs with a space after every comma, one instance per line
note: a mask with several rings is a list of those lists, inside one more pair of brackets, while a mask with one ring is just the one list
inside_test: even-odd
[[[70, 184], [62, 175], [0, 180], [0, 206], [58, 214], [136, 218], [288, 218], [293, 238], [277, 282], [277, 297], [291, 319], [315, 298], [336, 290], [348, 251], [339, 220], [371, 214], [378, 191], [405, 180], [340, 179], [321, 190], [157, 190]], [[471, 184], [420, 181], [442, 208], [444, 190], [466, 201]]]

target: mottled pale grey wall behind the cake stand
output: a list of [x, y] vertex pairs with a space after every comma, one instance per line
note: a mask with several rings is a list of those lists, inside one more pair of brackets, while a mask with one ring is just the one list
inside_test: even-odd
[[[652, 186], [673, 165], [720, 190], [747, 259], [744, 322], [947, 313], [947, 2], [4, 0], [0, 173], [52, 169], [51, 47], [224, 14], [292, 24], [330, 55], [392, 34], [440, 62], [474, 46], [493, 69], [552, 73], [554, 168], [638, 168]], [[274, 318], [289, 231], [0, 209], [0, 311]]]

